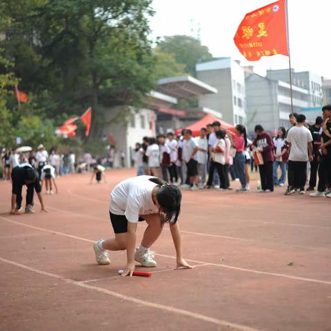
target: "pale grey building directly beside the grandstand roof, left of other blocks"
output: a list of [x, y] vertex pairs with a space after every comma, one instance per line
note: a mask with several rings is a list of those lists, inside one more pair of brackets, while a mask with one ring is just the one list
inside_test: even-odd
[[231, 124], [245, 124], [245, 71], [230, 57], [199, 63], [197, 78], [217, 89], [217, 93], [199, 97], [199, 107], [222, 114]]

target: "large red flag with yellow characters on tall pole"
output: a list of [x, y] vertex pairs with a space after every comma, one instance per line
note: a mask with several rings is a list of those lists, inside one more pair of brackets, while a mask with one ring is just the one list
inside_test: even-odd
[[288, 55], [285, 1], [279, 0], [245, 14], [233, 39], [248, 61]]

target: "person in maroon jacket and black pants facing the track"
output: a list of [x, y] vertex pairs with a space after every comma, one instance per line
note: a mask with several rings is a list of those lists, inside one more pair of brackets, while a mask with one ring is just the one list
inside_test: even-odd
[[270, 134], [265, 132], [262, 126], [255, 126], [254, 132], [257, 134], [257, 137], [254, 139], [251, 148], [252, 150], [259, 150], [263, 157], [263, 164], [259, 165], [261, 188], [263, 192], [273, 192], [274, 143]]

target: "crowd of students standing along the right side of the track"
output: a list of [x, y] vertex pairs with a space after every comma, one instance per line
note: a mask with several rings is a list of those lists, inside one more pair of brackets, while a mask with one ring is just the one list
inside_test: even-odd
[[273, 138], [257, 125], [252, 141], [241, 124], [223, 130], [218, 121], [201, 128], [197, 138], [191, 130], [177, 137], [172, 132], [144, 137], [134, 150], [137, 175], [152, 174], [191, 190], [232, 190], [231, 177], [241, 184], [237, 192], [245, 192], [250, 190], [250, 167], [258, 165], [260, 192], [273, 192], [288, 177], [285, 195], [305, 194], [315, 190], [319, 174], [317, 191], [310, 196], [331, 197], [331, 105], [322, 113], [313, 126], [305, 123], [303, 114], [290, 114], [291, 128], [279, 128]]

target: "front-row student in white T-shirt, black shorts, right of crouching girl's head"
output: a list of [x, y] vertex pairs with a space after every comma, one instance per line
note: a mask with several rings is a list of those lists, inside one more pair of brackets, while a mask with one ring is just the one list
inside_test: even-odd
[[188, 170], [191, 190], [199, 190], [197, 151], [198, 144], [197, 141], [192, 138], [192, 130], [185, 130], [183, 142], [183, 161], [185, 161], [186, 168]]

